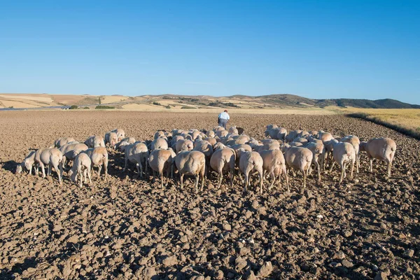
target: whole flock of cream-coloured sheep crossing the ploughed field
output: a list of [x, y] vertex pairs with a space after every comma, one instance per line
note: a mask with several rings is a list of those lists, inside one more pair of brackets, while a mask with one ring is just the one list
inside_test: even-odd
[[[209, 169], [218, 174], [218, 188], [221, 187], [223, 174], [230, 173], [230, 186], [233, 186], [235, 174], [244, 175], [244, 192], [246, 192], [250, 176], [259, 175], [260, 193], [263, 181], [267, 181], [269, 174], [269, 190], [276, 179], [283, 175], [288, 191], [288, 170], [293, 174], [299, 170], [303, 174], [303, 188], [306, 179], [311, 174], [312, 166], [316, 169], [318, 181], [321, 181], [322, 172], [332, 172], [335, 162], [341, 168], [339, 183], [346, 177], [346, 167], [351, 166], [350, 179], [353, 178], [353, 167], [359, 169], [360, 152], [364, 151], [370, 159], [370, 172], [372, 160], [384, 160], [387, 164], [387, 174], [391, 176], [391, 165], [395, 155], [395, 141], [388, 138], [375, 138], [362, 141], [358, 137], [349, 135], [337, 137], [329, 132], [293, 130], [287, 132], [282, 127], [267, 125], [266, 139], [260, 141], [248, 137], [240, 127], [216, 127], [214, 130], [172, 130], [167, 132], [159, 130], [155, 133], [153, 141], [136, 141], [132, 137], [125, 137], [123, 130], [117, 129], [107, 132], [104, 137], [92, 136], [85, 143], [79, 143], [71, 137], [57, 139], [50, 148], [31, 151], [27, 158], [18, 165], [16, 172], [20, 173], [25, 168], [31, 174], [32, 167], [36, 165], [36, 173], [41, 167], [45, 177], [45, 166], [48, 167], [48, 176], [52, 167], [57, 172], [59, 183], [62, 183], [64, 169], [68, 169], [69, 161], [73, 166], [68, 175], [73, 182], [79, 178], [80, 187], [89, 179], [93, 168], [98, 167], [100, 176], [104, 167], [105, 180], [108, 174], [109, 148], [118, 149], [125, 154], [125, 167], [129, 162], [137, 167], [139, 176], [148, 172], [148, 167], [153, 170], [153, 181], [156, 173], [160, 175], [161, 186], [164, 186], [164, 173], [167, 180], [174, 177], [174, 168], [179, 173], [181, 188], [185, 175], [195, 176], [195, 190], [198, 190], [200, 179], [201, 190], [204, 186], [204, 177]], [[235, 168], [239, 168], [236, 172]], [[329, 170], [327, 169], [329, 168]], [[168, 183], [168, 181], [167, 181]], [[166, 183], [166, 186], [167, 186]]]

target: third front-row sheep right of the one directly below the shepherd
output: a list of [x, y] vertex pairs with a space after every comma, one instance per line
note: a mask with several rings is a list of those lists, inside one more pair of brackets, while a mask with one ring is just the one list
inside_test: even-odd
[[293, 147], [288, 144], [283, 146], [283, 150], [288, 167], [300, 170], [303, 174], [303, 188], [301, 190], [301, 193], [303, 193], [304, 188], [306, 188], [307, 174], [313, 158], [312, 152], [308, 148]]

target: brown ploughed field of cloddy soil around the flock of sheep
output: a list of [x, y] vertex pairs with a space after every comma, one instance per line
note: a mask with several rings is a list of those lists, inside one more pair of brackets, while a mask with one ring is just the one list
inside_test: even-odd
[[[162, 189], [110, 151], [109, 181], [78, 188], [57, 177], [14, 174], [28, 148], [58, 137], [83, 141], [121, 127], [136, 139], [158, 129], [209, 129], [216, 115], [99, 111], [0, 112], [0, 278], [2, 279], [415, 279], [420, 275], [420, 142], [344, 116], [232, 115], [232, 125], [263, 137], [265, 125], [328, 130], [398, 145], [391, 178], [384, 165], [338, 186], [339, 169], [300, 176], [259, 195], [241, 182], [218, 190], [211, 174], [202, 193], [192, 179]], [[252, 181], [252, 183], [255, 183]], [[256, 278], [255, 278], [256, 277]]]

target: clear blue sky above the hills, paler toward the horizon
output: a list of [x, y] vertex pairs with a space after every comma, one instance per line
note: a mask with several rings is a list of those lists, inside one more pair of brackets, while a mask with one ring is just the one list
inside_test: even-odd
[[1, 1], [0, 92], [420, 104], [420, 1]]

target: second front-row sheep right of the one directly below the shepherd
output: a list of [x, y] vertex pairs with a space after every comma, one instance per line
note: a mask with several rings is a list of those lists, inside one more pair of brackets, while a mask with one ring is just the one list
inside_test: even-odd
[[286, 160], [284, 160], [283, 153], [279, 150], [263, 150], [259, 152], [262, 158], [262, 177], [265, 178], [265, 172], [269, 172], [269, 175], [272, 176], [272, 183], [269, 186], [268, 190], [272, 189], [272, 186], [276, 182], [276, 177], [280, 179], [280, 175], [286, 179], [287, 190], [290, 193], [290, 188], [288, 184], [288, 176], [286, 172]]

